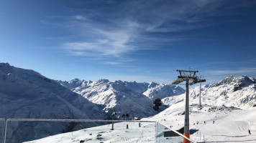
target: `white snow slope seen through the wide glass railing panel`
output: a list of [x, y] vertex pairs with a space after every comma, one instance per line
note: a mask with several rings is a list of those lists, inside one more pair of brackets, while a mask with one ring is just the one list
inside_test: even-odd
[[[127, 129], [127, 124], [129, 129]], [[26, 143], [43, 142], [155, 142], [155, 122], [143, 122], [141, 127], [139, 127], [139, 122], [120, 122], [114, 124], [114, 130], [111, 130], [111, 124], [106, 124], [99, 127], [81, 129], [76, 132], [57, 134]]]

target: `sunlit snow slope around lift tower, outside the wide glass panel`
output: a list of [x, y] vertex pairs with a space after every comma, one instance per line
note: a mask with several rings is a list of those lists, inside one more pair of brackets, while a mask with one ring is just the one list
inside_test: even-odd
[[[204, 105], [198, 110], [197, 104], [191, 105], [190, 108], [191, 139], [197, 142], [256, 142], [255, 108], [242, 110]], [[184, 126], [184, 115], [180, 114], [183, 111], [184, 103], [179, 102], [145, 120], [156, 120], [178, 130]], [[248, 133], [248, 129], [252, 134]]]

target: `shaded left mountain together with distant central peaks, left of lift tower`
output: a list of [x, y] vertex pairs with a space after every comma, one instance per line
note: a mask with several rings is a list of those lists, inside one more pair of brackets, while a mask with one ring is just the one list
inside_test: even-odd
[[[122, 119], [121, 114], [124, 113], [130, 115], [129, 119], [149, 117], [158, 113], [152, 109], [154, 97], [150, 94], [155, 90], [163, 94], [160, 89], [165, 87], [153, 82], [150, 84], [109, 82], [106, 79], [97, 82], [82, 82], [75, 79], [70, 83], [73, 83], [70, 87], [73, 87], [74, 92], [70, 87], [69, 89], [63, 87], [37, 71], [0, 63], [0, 117], [4, 119], [110, 119], [111, 111], [117, 113], [115, 119]], [[155, 90], [152, 90], [154, 88]], [[165, 88], [163, 91], [170, 92], [169, 96], [179, 93], [178, 89], [184, 92], [180, 87], [173, 88], [175, 92]], [[144, 94], [147, 89], [151, 89], [152, 92]], [[167, 107], [168, 105], [161, 107], [160, 111]], [[47, 123], [47, 125], [38, 123], [9, 122], [6, 142], [23, 142], [35, 139], [34, 137], [39, 139], [60, 132], [68, 132], [77, 125], [65, 122]], [[99, 124], [82, 125], [93, 127]], [[48, 131], [49, 128], [52, 129]]]

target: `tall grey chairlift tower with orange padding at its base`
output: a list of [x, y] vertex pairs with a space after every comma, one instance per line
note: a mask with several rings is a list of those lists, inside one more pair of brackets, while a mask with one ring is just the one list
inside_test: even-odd
[[[180, 76], [172, 84], [180, 84], [181, 82], [186, 81], [186, 101], [185, 101], [185, 119], [184, 119], [184, 136], [190, 138], [189, 134], [189, 85], [206, 82], [206, 79], [198, 79], [196, 73], [198, 71], [189, 70], [178, 70]], [[183, 143], [189, 143], [187, 139], [183, 139]]]

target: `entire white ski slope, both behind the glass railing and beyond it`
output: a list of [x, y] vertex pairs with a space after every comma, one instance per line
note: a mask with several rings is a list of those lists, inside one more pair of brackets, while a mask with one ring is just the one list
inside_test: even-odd
[[[190, 129], [193, 131], [191, 139], [196, 142], [256, 142], [256, 109], [241, 110], [229, 107], [213, 107], [203, 105], [198, 110], [197, 106], [191, 106]], [[142, 120], [157, 121], [167, 127], [178, 130], [183, 127], [183, 107], [169, 107], [155, 117]], [[209, 112], [211, 111], [211, 112]], [[197, 124], [198, 122], [198, 124]], [[204, 124], [206, 122], [206, 124]], [[129, 129], [126, 125], [129, 124]], [[159, 124], [157, 126], [160, 126]], [[56, 143], [56, 142], [155, 142], [155, 123], [121, 122], [101, 127], [82, 129], [76, 132], [57, 134], [26, 143]], [[249, 134], [250, 129], [251, 134]], [[163, 130], [164, 131], [164, 130]], [[158, 132], [160, 132], [158, 130]], [[91, 135], [90, 135], [91, 134]], [[101, 135], [99, 135], [101, 134]], [[97, 139], [97, 135], [98, 137]], [[170, 142], [172, 137], [161, 139], [162, 142]], [[158, 140], [158, 139], [157, 139]], [[182, 141], [182, 139], [180, 140]]]

